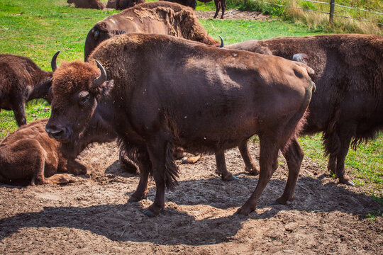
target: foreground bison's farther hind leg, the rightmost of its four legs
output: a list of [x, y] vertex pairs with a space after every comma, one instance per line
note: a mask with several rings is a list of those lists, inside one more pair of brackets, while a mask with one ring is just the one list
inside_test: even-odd
[[298, 180], [299, 170], [301, 169], [301, 163], [304, 157], [299, 142], [296, 137], [291, 141], [289, 147], [282, 151], [284, 158], [287, 161], [287, 167], [289, 168], [289, 177], [287, 178], [286, 187], [280, 198], [277, 199], [277, 203], [285, 205], [287, 201], [293, 201], [296, 181]]

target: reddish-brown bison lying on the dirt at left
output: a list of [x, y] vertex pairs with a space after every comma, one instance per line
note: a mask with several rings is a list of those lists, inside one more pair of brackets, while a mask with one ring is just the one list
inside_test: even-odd
[[[45, 131], [48, 119], [37, 120], [13, 132], [0, 144], [0, 182], [29, 180], [31, 185], [76, 181], [67, 174], [86, 174], [87, 168], [75, 159], [91, 142], [111, 142], [115, 132], [96, 119], [76, 142], [61, 144]], [[97, 130], [97, 132], [94, 132]], [[104, 130], [99, 134], [100, 130]], [[121, 166], [135, 172], [133, 163], [120, 155]]]

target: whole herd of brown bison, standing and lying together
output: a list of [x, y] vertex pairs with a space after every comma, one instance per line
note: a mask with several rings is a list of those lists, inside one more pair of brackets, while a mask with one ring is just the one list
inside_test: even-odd
[[[233, 180], [224, 152], [238, 147], [245, 169], [260, 175], [238, 210], [247, 215], [277, 169], [279, 151], [289, 174], [277, 202], [294, 200], [304, 157], [296, 137], [323, 132], [328, 170], [352, 185], [344, 169], [350, 144], [383, 128], [383, 37], [219, 44], [191, 8], [157, 1], [96, 23], [85, 62], [58, 67], [57, 52], [52, 72], [45, 72], [26, 57], [0, 55], [0, 107], [13, 110], [21, 126], [0, 144], [0, 181], [75, 181], [66, 173], [87, 172], [76, 161], [87, 145], [118, 139], [121, 165], [140, 172], [132, 200], [145, 198], [153, 176], [155, 200], [144, 213], [154, 216], [165, 208], [165, 188], [177, 185], [178, 148], [216, 154], [218, 172]], [[26, 125], [24, 105], [32, 98], [51, 103], [49, 120]], [[248, 152], [253, 135], [260, 139], [260, 169]]]

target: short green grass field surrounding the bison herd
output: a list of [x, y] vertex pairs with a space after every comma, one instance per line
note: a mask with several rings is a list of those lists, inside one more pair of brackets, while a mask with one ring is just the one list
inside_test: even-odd
[[[199, 4], [197, 9], [211, 8]], [[1, 0], [0, 1], [0, 53], [12, 53], [30, 57], [42, 69], [50, 70], [52, 55], [60, 50], [62, 60], [83, 60], [84, 39], [96, 21], [117, 11], [99, 11], [74, 8], [65, 0]], [[221, 35], [226, 44], [250, 39], [278, 36], [315, 35], [318, 31], [281, 20], [271, 21], [201, 21], [214, 38]], [[50, 106], [44, 101], [32, 101], [27, 106], [28, 122], [48, 118]], [[0, 140], [16, 130], [13, 113], [0, 113]], [[302, 137], [301, 145], [307, 157], [315, 159], [323, 169], [321, 136]], [[357, 186], [382, 200], [383, 196], [383, 135], [377, 140], [361, 145], [357, 152], [350, 150], [346, 169]]]

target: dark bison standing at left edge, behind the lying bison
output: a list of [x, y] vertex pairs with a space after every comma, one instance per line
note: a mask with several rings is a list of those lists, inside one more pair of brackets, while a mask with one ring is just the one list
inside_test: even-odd
[[26, 102], [45, 98], [50, 102], [52, 72], [40, 69], [28, 57], [0, 55], [0, 111], [12, 110], [17, 125], [26, 124]]

